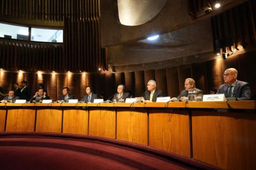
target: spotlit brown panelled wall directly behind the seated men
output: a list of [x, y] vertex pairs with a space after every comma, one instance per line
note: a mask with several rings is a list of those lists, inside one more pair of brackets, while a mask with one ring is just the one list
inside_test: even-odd
[[160, 70], [135, 71], [127, 73], [66, 73], [66, 74], [42, 74], [38, 73], [11, 73], [0, 71], [0, 86], [5, 92], [11, 88], [13, 82], [27, 80], [33, 90], [33, 94], [38, 83], [44, 83], [48, 95], [53, 99], [61, 96], [61, 89], [68, 86], [70, 92], [76, 98], [81, 99], [85, 95], [85, 87], [92, 86], [94, 92], [108, 99], [116, 92], [119, 83], [126, 86], [127, 91], [131, 91], [133, 96], [139, 97], [145, 91], [145, 86], [150, 79], [156, 80], [157, 87], [163, 90], [164, 95], [171, 97], [178, 96], [184, 89], [186, 78], [193, 78], [196, 87], [203, 90], [204, 94], [209, 94], [213, 88], [218, 89], [223, 83], [222, 73], [229, 67], [238, 70], [238, 80], [250, 83], [252, 99], [256, 99], [256, 51], [230, 56], [227, 60], [218, 58], [204, 63], [187, 64], [179, 67], [171, 67]]

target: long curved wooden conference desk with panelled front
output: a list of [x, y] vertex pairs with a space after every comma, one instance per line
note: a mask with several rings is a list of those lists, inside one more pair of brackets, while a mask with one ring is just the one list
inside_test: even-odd
[[0, 104], [0, 132], [121, 140], [223, 169], [256, 167], [256, 101]]

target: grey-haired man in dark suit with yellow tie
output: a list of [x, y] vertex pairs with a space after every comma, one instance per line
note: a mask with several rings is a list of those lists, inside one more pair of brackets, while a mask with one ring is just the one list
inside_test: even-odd
[[148, 91], [144, 94], [145, 102], [156, 102], [157, 97], [162, 97], [162, 90], [158, 90], [156, 88], [156, 81], [155, 80], [149, 80], [147, 85]]

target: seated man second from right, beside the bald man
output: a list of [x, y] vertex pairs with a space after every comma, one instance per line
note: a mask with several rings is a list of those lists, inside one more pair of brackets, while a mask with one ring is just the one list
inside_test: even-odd
[[185, 90], [182, 90], [180, 92], [180, 95], [176, 98], [173, 97], [171, 100], [179, 100], [179, 101], [185, 101], [185, 98], [188, 97], [188, 90], [189, 89], [195, 89], [197, 96], [203, 96], [203, 91], [196, 88], [196, 82], [194, 79], [187, 78], [184, 83]]

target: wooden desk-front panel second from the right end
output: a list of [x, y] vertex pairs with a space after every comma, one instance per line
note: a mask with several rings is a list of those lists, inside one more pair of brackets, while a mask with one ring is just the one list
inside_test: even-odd
[[149, 111], [149, 146], [191, 157], [188, 112]]

